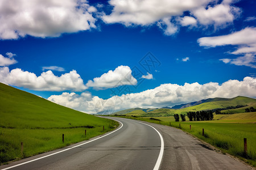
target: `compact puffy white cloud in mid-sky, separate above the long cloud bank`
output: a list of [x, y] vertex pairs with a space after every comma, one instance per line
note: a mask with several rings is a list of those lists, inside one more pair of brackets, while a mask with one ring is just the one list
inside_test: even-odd
[[114, 71], [109, 70], [108, 73], [102, 74], [86, 83], [87, 87], [93, 87], [101, 90], [113, 88], [123, 85], [136, 85], [137, 80], [131, 75], [129, 66], [118, 66]]

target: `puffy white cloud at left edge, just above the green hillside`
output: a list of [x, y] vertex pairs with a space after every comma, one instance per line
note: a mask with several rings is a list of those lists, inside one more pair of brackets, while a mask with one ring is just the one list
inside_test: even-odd
[[37, 91], [82, 91], [86, 89], [76, 70], [61, 76], [56, 76], [49, 70], [36, 76], [34, 73], [21, 69], [10, 71], [8, 67], [0, 67], [0, 82]]

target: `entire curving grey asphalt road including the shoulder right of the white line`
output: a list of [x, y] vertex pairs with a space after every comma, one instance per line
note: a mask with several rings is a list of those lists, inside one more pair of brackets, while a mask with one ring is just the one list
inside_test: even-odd
[[80, 142], [3, 165], [0, 169], [158, 169], [159, 166], [160, 169], [251, 169], [228, 155], [210, 150], [179, 129], [113, 119], [122, 124], [112, 133], [90, 139], [89, 143]]

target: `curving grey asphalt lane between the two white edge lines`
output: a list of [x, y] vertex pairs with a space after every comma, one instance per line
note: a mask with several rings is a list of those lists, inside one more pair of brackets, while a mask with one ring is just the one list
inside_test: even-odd
[[[0, 169], [154, 169], [155, 166], [158, 169], [161, 148], [158, 132], [141, 122], [113, 119], [120, 121], [121, 126], [105, 137], [23, 159]], [[40, 159], [43, 156], [47, 157]]]

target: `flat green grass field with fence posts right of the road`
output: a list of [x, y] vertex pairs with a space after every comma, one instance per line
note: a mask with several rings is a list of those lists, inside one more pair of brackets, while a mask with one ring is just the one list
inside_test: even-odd
[[[126, 117], [127, 118], [127, 117]], [[256, 166], [256, 112], [214, 115], [213, 121], [175, 122], [174, 117], [129, 117], [136, 120], [173, 126], [187, 131], [195, 137], [220, 148]], [[218, 120], [217, 120], [218, 119]], [[188, 120], [188, 118], [187, 118]], [[191, 130], [190, 130], [191, 125]], [[204, 128], [205, 135], [202, 135]], [[247, 138], [247, 155], [243, 152], [243, 138]]]

